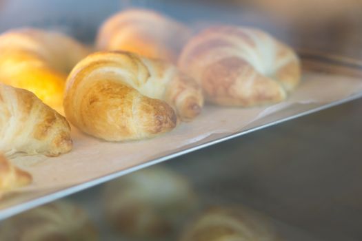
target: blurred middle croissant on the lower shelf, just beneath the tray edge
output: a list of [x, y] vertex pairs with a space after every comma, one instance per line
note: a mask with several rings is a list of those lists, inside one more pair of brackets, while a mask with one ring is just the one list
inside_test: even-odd
[[172, 238], [198, 202], [184, 176], [148, 167], [107, 183], [103, 206], [111, 226], [127, 236], [125, 240], [163, 240]]

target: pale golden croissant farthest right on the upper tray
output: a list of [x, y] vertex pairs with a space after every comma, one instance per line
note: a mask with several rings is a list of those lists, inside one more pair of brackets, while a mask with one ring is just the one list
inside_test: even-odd
[[283, 101], [300, 79], [299, 58], [287, 45], [253, 28], [217, 25], [194, 36], [179, 67], [218, 105], [250, 107]]

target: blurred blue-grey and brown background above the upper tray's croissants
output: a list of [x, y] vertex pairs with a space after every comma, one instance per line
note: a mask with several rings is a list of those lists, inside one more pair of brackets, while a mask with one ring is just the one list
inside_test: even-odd
[[110, 14], [123, 8], [141, 7], [165, 12], [195, 29], [215, 22], [251, 25], [272, 32], [296, 48], [343, 54], [354, 58], [360, 58], [362, 54], [362, 1], [359, 0], [0, 2], [0, 31], [23, 25], [46, 25], [70, 32], [83, 41], [91, 41], [97, 31], [95, 27]]

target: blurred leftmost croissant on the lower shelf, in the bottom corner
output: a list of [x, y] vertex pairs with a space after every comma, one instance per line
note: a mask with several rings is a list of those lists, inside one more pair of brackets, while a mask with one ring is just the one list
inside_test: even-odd
[[92, 241], [97, 229], [86, 211], [58, 201], [9, 218], [0, 225], [1, 241]]

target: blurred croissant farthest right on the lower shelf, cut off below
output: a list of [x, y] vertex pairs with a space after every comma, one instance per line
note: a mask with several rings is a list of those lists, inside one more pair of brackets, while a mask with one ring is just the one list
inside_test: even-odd
[[281, 237], [270, 221], [246, 207], [217, 207], [203, 213], [181, 241], [276, 241]]

